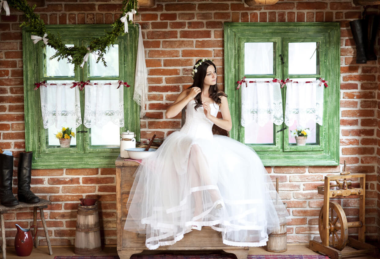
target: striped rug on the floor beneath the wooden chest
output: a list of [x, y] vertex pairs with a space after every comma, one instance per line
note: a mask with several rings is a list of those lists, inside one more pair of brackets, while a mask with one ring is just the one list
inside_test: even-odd
[[[119, 256], [55, 256], [54, 259], [119, 259]], [[234, 255], [196, 255], [181, 256], [173, 254], [159, 254], [149, 256], [133, 255], [131, 259], [236, 259]], [[250, 254], [247, 259], [329, 259], [328, 256], [322, 255], [253, 255]]]

